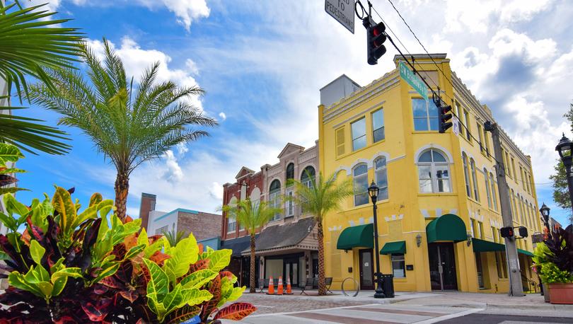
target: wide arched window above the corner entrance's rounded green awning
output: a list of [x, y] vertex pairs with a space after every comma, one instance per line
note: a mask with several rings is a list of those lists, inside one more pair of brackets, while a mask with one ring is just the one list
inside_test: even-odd
[[451, 192], [448, 161], [439, 151], [429, 149], [418, 158], [420, 192]]

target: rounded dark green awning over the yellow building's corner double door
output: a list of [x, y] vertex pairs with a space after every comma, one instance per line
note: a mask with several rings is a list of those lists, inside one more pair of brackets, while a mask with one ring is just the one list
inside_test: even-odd
[[465, 232], [465, 224], [458, 216], [454, 214], [445, 214], [426, 226], [428, 243], [435, 241], [453, 241], [458, 243], [468, 239]]

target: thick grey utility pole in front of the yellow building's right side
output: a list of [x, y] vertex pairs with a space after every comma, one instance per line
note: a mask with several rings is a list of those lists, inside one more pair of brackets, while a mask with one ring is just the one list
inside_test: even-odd
[[[504, 158], [502, 156], [502, 141], [499, 139], [499, 128], [497, 124], [485, 122], [484, 128], [487, 132], [492, 133], [494, 146], [494, 156], [497, 161], [496, 175], [497, 188], [499, 192], [499, 202], [502, 205], [502, 219], [504, 227], [514, 227], [513, 217], [511, 215], [511, 202], [509, 202], [509, 187], [505, 179]], [[509, 269], [509, 296], [525, 296], [523, 286], [521, 285], [521, 272], [519, 270], [519, 259], [517, 257], [517, 247], [515, 236], [505, 238], [505, 252], [507, 255], [507, 267]]]

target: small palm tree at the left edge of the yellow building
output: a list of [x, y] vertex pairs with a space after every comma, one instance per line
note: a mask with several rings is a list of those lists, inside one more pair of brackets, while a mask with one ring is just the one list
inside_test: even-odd
[[[306, 172], [308, 178], [312, 178], [308, 171]], [[325, 295], [323, 221], [329, 212], [340, 209], [343, 199], [352, 195], [352, 179], [337, 181], [334, 174], [325, 179], [319, 173], [318, 178], [311, 181], [310, 186], [297, 180], [292, 180], [292, 183], [296, 195], [287, 199], [291, 199], [305, 212], [312, 214], [318, 226], [318, 294]]]

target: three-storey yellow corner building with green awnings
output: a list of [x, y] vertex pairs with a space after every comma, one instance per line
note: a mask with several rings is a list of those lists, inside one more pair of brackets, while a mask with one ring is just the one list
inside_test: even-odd
[[[396, 291], [487, 291], [509, 289], [495, 178], [492, 141], [483, 123], [494, 122], [450, 69], [446, 54], [416, 54], [415, 68], [460, 118], [437, 132], [437, 109], [403, 79], [398, 69], [360, 87], [340, 76], [320, 89], [319, 161], [325, 175], [352, 178], [354, 196], [325, 219], [325, 270], [335, 289], [351, 277], [374, 288], [374, 252]], [[401, 57], [395, 57], [398, 66]], [[447, 79], [446, 79], [447, 78]], [[449, 81], [448, 81], [449, 80]], [[437, 91], [435, 86], [434, 90]], [[502, 133], [514, 226], [529, 237], [517, 240], [523, 287], [531, 272], [531, 234], [541, 231], [531, 158]], [[373, 208], [367, 187], [378, 196], [378, 242], [373, 251]], [[345, 289], [352, 288], [352, 280]]]

